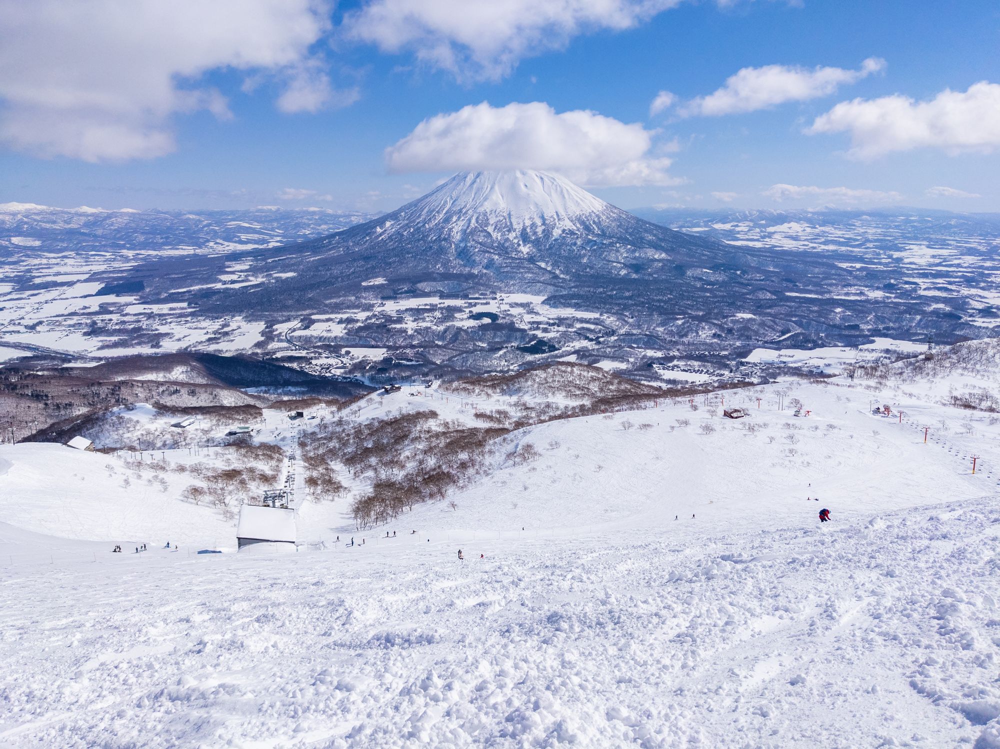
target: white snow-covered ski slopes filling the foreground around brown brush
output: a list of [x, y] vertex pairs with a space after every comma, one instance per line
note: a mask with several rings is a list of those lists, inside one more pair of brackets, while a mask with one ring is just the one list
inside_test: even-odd
[[[308, 503], [280, 556], [197, 554], [233, 521], [169, 472], [2, 447], [0, 746], [1000, 747], [1000, 420], [905, 388], [528, 427], [454, 506], [356, 532]], [[404, 388], [346, 416], [520, 397]]]

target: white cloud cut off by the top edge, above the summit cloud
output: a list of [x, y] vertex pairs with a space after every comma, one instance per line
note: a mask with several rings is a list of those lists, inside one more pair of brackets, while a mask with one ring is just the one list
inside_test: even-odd
[[372, 0], [345, 15], [352, 39], [412, 51], [460, 79], [497, 79], [574, 36], [620, 31], [681, 0]]

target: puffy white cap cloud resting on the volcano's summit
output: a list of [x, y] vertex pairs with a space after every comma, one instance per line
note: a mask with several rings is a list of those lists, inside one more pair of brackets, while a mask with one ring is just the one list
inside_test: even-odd
[[430, 117], [386, 149], [391, 172], [542, 169], [583, 185], [669, 185], [655, 131], [596, 112], [557, 114], [544, 102], [473, 104]]

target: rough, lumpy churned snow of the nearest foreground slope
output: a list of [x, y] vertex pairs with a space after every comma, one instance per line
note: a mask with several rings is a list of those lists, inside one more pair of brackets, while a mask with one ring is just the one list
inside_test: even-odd
[[14, 577], [0, 744], [1000, 746], [998, 521]]

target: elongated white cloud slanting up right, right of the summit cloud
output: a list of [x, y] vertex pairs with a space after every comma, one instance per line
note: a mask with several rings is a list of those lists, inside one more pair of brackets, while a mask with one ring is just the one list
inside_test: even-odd
[[717, 116], [754, 112], [789, 101], [807, 101], [828, 96], [839, 86], [865, 78], [885, 69], [885, 60], [869, 57], [857, 70], [790, 65], [765, 65], [743, 68], [726, 79], [726, 85], [708, 96], [685, 104], [685, 116]]

